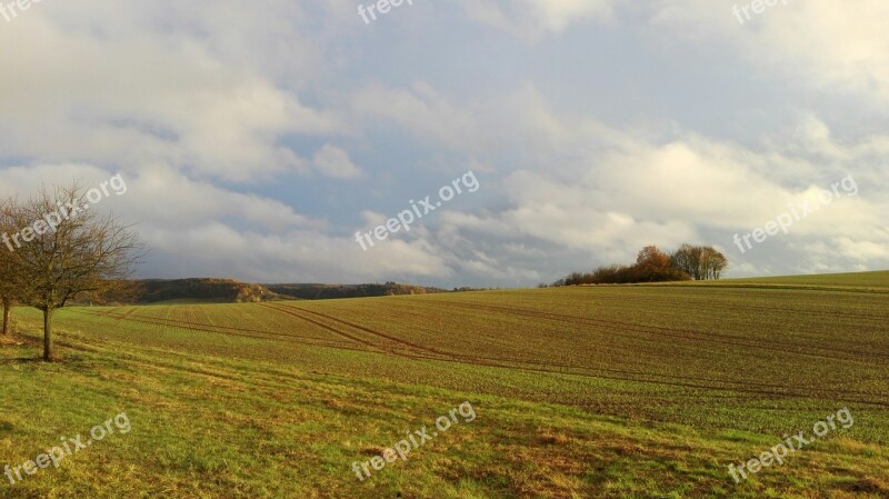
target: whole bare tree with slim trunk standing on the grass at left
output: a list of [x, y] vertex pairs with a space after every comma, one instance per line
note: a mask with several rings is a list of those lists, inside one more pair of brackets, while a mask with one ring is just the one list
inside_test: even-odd
[[130, 227], [89, 211], [79, 183], [41, 189], [20, 204], [13, 219], [21, 230], [16, 252], [31, 281], [23, 302], [43, 312], [43, 359], [53, 360], [52, 315], [79, 295], [97, 293], [127, 279], [141, 258]]

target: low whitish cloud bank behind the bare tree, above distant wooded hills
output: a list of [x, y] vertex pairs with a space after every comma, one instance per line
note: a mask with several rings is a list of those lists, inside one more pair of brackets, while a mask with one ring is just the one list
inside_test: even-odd
[[[113, 174], [88, 164], [0, 169], [0, 197], [33, 192], [49, 181], [98, 186]], [[96, 209], [113, 212], [150, 248], [141, 277], [231, 276], [266, 282], [374, 280], [379, 276], [447, 278], [453, 269], [424, 240], [384, 241], [362, 252], [353, 237], [279, 201], [191, 180], [154, 164], [126, 176], [127, 193]]]

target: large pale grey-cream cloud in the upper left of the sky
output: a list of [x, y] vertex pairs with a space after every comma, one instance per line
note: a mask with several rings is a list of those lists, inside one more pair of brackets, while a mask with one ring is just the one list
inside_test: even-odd
[[[4, 57], [0, 81], [0, 92], [16, 94], [0, 101], [6, 157], [163, 162], [201, 177], [257, 181], [298, 168], [282, 139], [344, 130], [268, 74], [232, 64], [216, 49], [217, 38], [112, 28], [109, 42], [101, 31], [72, 29], [82, 13], [59, 20], [54, 6], [40, 7], [0, 30], [0, 44], [19, 47]], [[116, 13], [97, 12], [109, 26]]]

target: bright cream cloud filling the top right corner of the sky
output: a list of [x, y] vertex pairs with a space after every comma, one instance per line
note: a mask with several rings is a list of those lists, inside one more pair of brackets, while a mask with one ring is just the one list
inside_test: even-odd
[[662, 0], [655, 27], [693, 42], [718, 43], [761, 74], [826, 93], [889, 100], [889, 3], [859, 0], [778, 2], [741, 24], [732, 4]]

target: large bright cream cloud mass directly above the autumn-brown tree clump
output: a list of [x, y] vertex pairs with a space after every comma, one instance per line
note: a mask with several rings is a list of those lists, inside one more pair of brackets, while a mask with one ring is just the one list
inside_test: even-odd
[[[558, 116], [542, 103], [532, 108], [537, 120], [517, 119], [512, 129], [498, 130], [536, 138], [523, 142], [530, 150], [522, 156], [532, 160], [499, 182], [507, 207], [444, 213], [442, 231], [499, 248], [568, 249], [589, 255], [596, 265], [631, 259], [645, 244], [671, 249], [687, 241], [726, 251], [736, 272], [813, 268], [827, 252], [836, 269], [889, 263], [881, 250], [889, 247], [881, 221], [889, 200], [876, 194], [889, 187], [887, 137], [840, 142], [808, 114], [786, 136], [766, 136], [747, 147], [681, 129], [656, 139]], [[733, 233], [762, 227], [790, 206], [816, 202], [849, 174], [860, 179], [858, 196], [841, 190], [768, 248], [741, 255], [732, 247]], [[822, 251], [807, 253], [816, 242]]]

